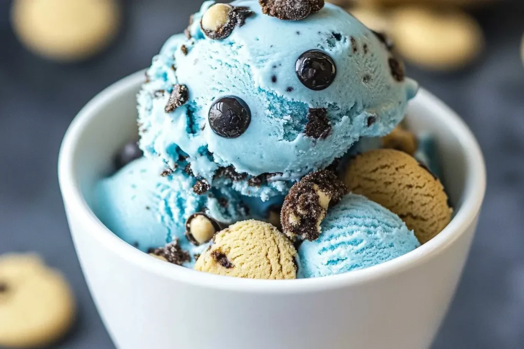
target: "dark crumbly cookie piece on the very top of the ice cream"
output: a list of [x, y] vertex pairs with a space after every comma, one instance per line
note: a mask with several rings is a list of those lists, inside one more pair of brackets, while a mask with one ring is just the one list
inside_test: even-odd
[[301, 20], [324, 7], [324, 0], [258, 0], [262, 13], [283, 20]]

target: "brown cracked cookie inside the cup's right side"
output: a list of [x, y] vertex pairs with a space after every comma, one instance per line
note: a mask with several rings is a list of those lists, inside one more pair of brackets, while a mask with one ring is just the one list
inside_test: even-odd
[[350, 163], [345, 184], [396, 213], [420, 243], [431, 240], [451, 220], [451, 208], [439, 179], [410, 155], [377, 149]]

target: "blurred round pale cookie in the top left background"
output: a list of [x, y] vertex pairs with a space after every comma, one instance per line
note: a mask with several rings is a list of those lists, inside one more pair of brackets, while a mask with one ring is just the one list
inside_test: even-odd
[[115, 37], [120, 12], [116, 0], [15, 0], [12, 22], [31, 51], [53, 60], [78, 61]]

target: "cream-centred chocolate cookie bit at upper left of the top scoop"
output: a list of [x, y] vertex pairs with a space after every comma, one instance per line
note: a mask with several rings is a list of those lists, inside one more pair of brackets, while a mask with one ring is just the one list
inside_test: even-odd
[[235, 27], [243, 26], [246, 17], [253, 14], [247, 7], [214, 4], [202, 16], [200, 28], [206, 37], [222, 40], [230, 36]]

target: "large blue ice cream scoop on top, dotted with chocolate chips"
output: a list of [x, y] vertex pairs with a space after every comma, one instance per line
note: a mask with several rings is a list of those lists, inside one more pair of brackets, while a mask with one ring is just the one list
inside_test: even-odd
[[342, 8], [326, 3], [290, 21], [235, 1], [237, 22], [217, 39], [201, 27], [213, 4], [147, 71], [138, 95], [146, 156], [188, 163], [210, 183], [233, 169], [236, 190], [268, 199], [360, 137], [390, 132], [416, 94], [389, 42]]

